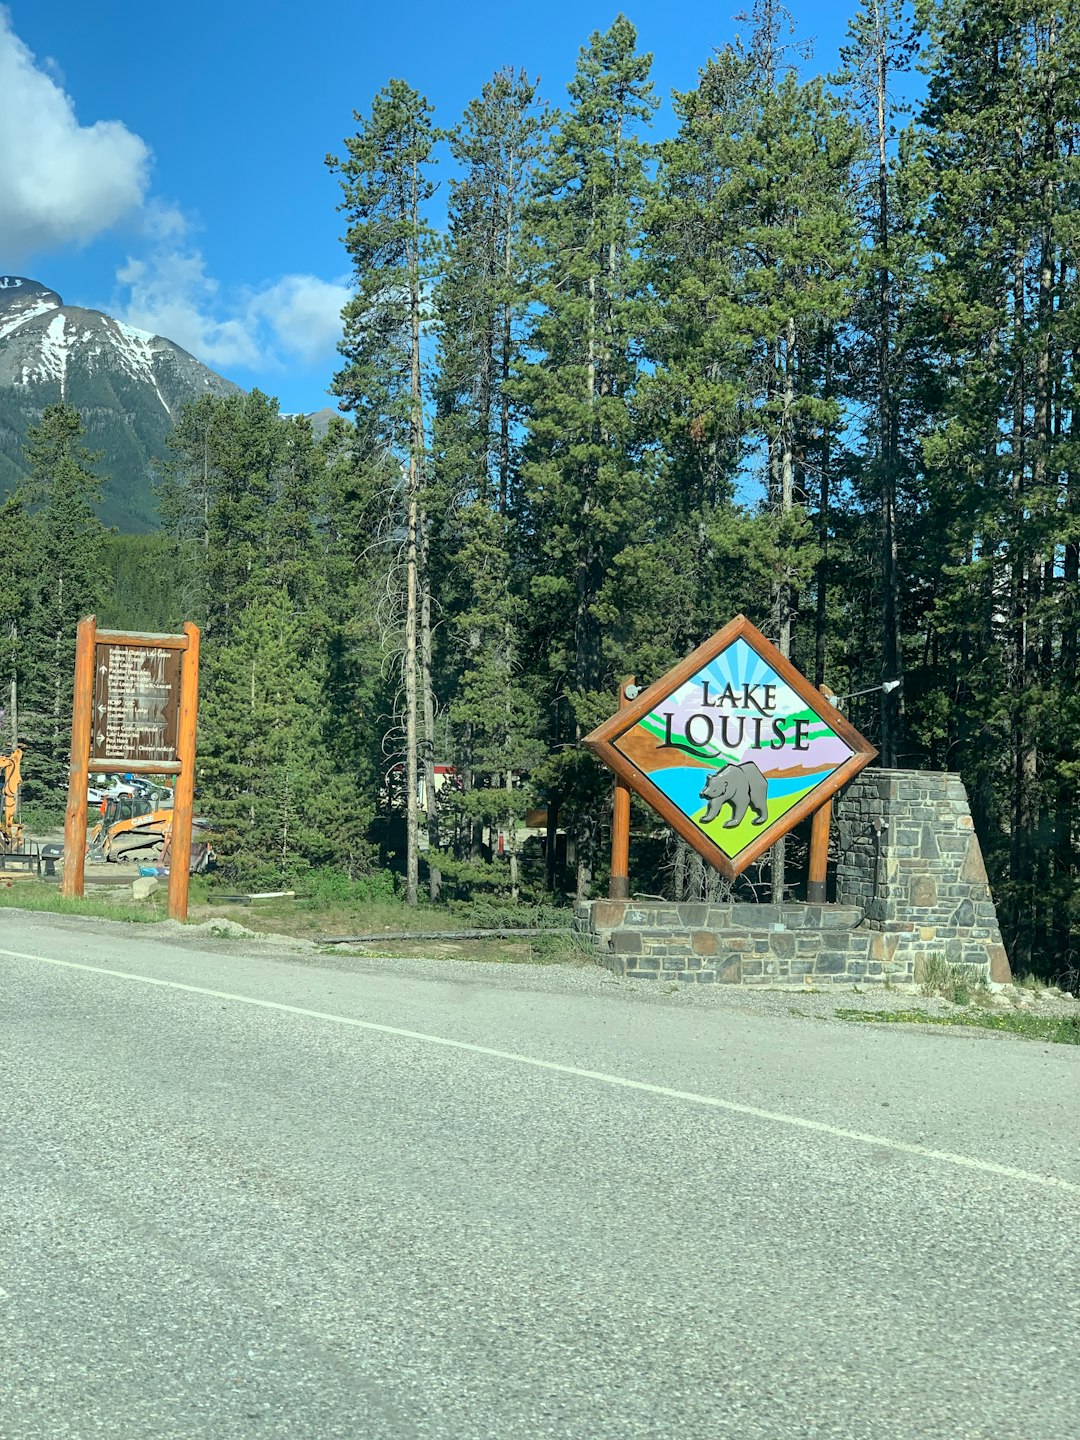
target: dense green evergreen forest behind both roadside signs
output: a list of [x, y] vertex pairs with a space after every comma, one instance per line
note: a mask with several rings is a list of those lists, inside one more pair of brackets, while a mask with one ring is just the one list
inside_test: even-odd
[[[564, 96], [505, 69], [444, 117], [390, 79], [327, 157], [341, 416], [189, 405], [157, 533], [102, 528], [45, 412], [0, 505], [27, 799], [62, 795], [81, 615], [192, 619], [230, 884], [602, 894], [580, 740], [743, 612], [867, 691], [878, 763], [962, 775], [1014, 971], [1076, 981], [1080, 10], [861, 0], [812, 78], [778, 3], [743, 30], [667, 138], [624, 16]], [[739, 884], [796, 894], [801, 858]], [[631, 873], [720, 884], [645, 809]]]

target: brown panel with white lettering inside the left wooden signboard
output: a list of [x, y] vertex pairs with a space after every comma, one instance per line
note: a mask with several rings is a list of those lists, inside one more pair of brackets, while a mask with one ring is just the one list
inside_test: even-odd
[[91, 765], [176, 760], [179, 717], [179, 649], [96, 644]]

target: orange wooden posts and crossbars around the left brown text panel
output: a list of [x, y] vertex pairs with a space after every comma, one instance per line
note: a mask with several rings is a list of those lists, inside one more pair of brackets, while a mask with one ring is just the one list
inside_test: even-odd
[[[63, 825], [63, 880], [60, 893], [82, 899], [86, 861], [86, 789], [91, 766], [98, 773], [174, 775], [173, 838], [168, 857], [168, 914], [187, 919], [189, 868], [192, 864], [192, 812], [194, 808], [194, 730], [199, 714], [199, 626], [184, 625], [183, 635], [144, 635], [131, 631], [99, 631], [94, 615], [79, 621], [75, 641], [75, 704], [71, 726], [71, 768], [68, 770], [68, 812]], [[174, 759], [138, 756], [101, 756], [95, 743], [95, 680], [98, 648], [135, 647], [140, 649], [179, 651], [179, 696], [176, 714], [166, 721], [176, 727]], [[170, 667], [171, 668], [171, 667]], [[164, 710], [173, 704], [167, 697]], [[91, 750], [95, 750], [91, 760]], [[171, 746], [167, 746], [171, 749]]]

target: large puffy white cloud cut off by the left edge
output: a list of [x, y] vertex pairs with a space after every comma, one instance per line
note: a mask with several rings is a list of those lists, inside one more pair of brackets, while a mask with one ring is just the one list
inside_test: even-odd
[[75, 107], [0, 6], [0, 255], [85, 245], [144, 200], [150, 150], [117, 120], [81, 125]]

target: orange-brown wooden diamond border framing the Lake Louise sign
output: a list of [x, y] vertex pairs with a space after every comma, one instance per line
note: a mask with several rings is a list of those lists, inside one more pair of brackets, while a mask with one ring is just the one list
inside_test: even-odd
[[[805, 795], [796, 805], [792, 806], [786, 814], [780, 815], [773, 821], [760, 835], [757, 835], [749, 845], [746, 845], [739, 854], [732, 858], [726, 855], [719, 845], [716, 845], [708, 835], [701, 831], [688, 815], [685, 815], [662, 791], [654, 785], [648, 775], [638, 769], [638, 766], [629, 760], [621, 750], [616, 749], [615, 742], [621, 739], [628, 730], [632, 730], [639, 720], [644, 720], [661, 701], [668, 698], [672, 691], [678, 690], [680, 685], [691, 680], [700, 670], [703, 670], [711, 660], [716, 660], [724, 649], [733, 645], [737, 639], [744, 639], [746, 644], [753, 649], [760, 660], [763, 660], [779, 678], [789, 685], [795, 694], [805, 700], [808, 707], [814, 710], [829, 729], [847, 744], [852, 752], [851, 756], [840, 765], [832, 773], [821, 780], [814, 789]], [[815, 811], [821, 809], [824, 805], [829, 804], [832, 796], [841, 789], [850, 779], [852, 779], [861, 769], [870, 765], [871, 760], [877, 757], [877, 750], [864, 736], [855, 730], [855, 727], [837, 710], [825, 696], [815, 690], [814, 685], [801, 675], [799, 671], [792, 665], [789, 660], [779, 652], [779, 649], [766, 639], [765, 635], [753, 625], [744, 615], [737, 615], [733, 621], [719, 629], [716, 635], [711, 635], [704, 644], [698, 645], [697, 649], [687, 655], [684, 661], [670, 670], [667, 675], [654, 681], [647, 690], [644, 690], [635, 700], [632, 700], [624, 708], [619, 708], [609, 720], [598, 726], [590, 734], [585, 737], [585, 744], [602, 760], [615, 775], [622, 780], [635, 795], [639, 795], [660, 816], [664, 819], [675, 834], [681, 835], [710, 865], [714, 865], [721, 876], [729, 880], [734, 880], [736, 876], [742, 874], [749, 865], [755, 863], [760, 855], [770, 850], [782, 835], [793, 829], [799, 821], [812, 815]]]

